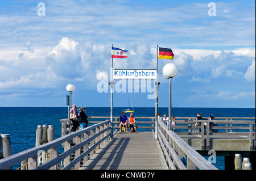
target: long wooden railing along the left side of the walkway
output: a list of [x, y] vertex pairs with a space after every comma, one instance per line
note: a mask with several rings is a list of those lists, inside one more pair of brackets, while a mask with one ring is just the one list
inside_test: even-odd
[[[9, 169], [16, 163], [26, 159], [28, 159], [28, 170], [56, 170], [57, 165], [63, 160], [63, 170], [72, 169], [73, 166], [75, 166], [75, 169], [79, 169], [80, 162], [86, 162], [88, 154], [91, 157], [109, 138], [110, 120], [101, 121], [101, 123], [72, 132], [46, 144], [0, 159], [0, 170]], [[73, 140], [75, 140], [74, 146], [71, 145]], [[64, 152], [57, 155], [57, 146], [61, 144], [64, 144]], [[49, 153], [49, 161], [43, 164], [38, 163], [38, 156], [44, 151]], [[73, 153], [75, 153], [75, 157], [71, 161]]]

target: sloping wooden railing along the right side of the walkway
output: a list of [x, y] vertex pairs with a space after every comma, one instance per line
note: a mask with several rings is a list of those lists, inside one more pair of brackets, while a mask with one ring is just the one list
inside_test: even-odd
[[171, 170], [217, 170], [203, 156], [158, 121], [158, 140]]

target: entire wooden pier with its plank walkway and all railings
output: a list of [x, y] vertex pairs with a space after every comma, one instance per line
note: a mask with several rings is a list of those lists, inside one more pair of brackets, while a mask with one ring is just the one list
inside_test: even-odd
[[[93, 125], [72, 133], [69, 120], [63, 119], [60, 138], [0, 159], [0, 170], [24, 161], [28, 170], [216, 170], [203, 157], [212, 149], [216, 156], [225, 157], [225, 169], [234, 167], [229, 163], [234, 163], [237, 153], [255, 160], [255, 117], [216, 117], [218, 126], [210, 126], [206, 120], [196, 126], [195, 117], [176, 117], [175, 132], [158, 121], [157, 134], [155, 117], [137, 117], [138, 133], [119, 133], [118, 117], [113, 124], [108, 118], [92, 117]], [[115, 134], [111, 140], [112, 129]], [[218, 132], [210, 132], [212, 129]], [[62, 153], [57, 154], [58, 146], [63, 146]], [[39, 162], [42, 151], [49, 155], [46, 162]], [[255, 162], [252, 165], [254, 168]]]

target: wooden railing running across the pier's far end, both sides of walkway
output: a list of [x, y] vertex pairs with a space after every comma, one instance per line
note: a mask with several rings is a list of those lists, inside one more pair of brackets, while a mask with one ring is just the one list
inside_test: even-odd
[[[96, 124], [109, 116], [93, 116], [89, 123]], [[119, 129], [119, 117], [113, 117], [113, 128]], [[155, 117], [136, 117], [138, 130], [154, 131]], [[215, 122], [217, 125], [210, 124]], [[69, 130], [68, 119], [61, 120], [62, 135]], [[201, 138], [201, 149], [210, 150], [210, 136], [247, 136], [250, 140], [250, 150], [255, 150], [255, 117], [215, 117], [215, 120], [197, 120], [196, 117], [176, 117], [176, 125], [172, 126], [178, 135], [196, 135]], [[196, 125], [200, 123], [200, 125]]]

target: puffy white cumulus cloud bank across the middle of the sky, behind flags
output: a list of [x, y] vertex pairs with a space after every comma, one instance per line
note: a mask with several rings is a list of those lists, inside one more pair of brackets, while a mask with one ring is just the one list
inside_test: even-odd
[[[114, 68], [155, 68], [155, 45], [123, 43], [114, 46], [128, 50], [128, 58], [114, 58]], [[16, 50], [0, 50], [0, 90], [3, 95], [10, 95], [8, 97], [10, 99], [14, 99], [15, 95], [20, 98], [22, 96], [20, 92], [24, 91], [34, 91], [33, 95], [36, 96], [42, 90], [47, 90], [48, 93], [43, 96], [49, 97], [49, 94], [52, 94], [51, 90], [59, 90], [67, 83], [73, 83], [79, 89], [96, 90], [98, 82], [101, 81], [99, 78], [109, 75], [111, 66], [111, 45], [109, 44], [63, 37], [53, 47], [41, 49], [33, 47], [30, 43], [24, 44], [24, 47]], [[213, 100], [213, 102], [222, 99], [255, 98], [255, 93], [251, 90], [254, 85], [251, 83], [246, 85], [247, 81], [255, 80], [255, 56], [251, 54], [253, 48], [246, 48], [239, 55], [236, 53], [237, 49], [218, 51], [173, 48], [172, 50], [175, 53], [174, 60], [158, 60], [161, 87], [167, 83], [162, 75], [163, 66], [168, 62], [174, 62], [179, 69], [175, 78], [177, 87], [179, 84], [191, 84], [192, 87], [186, 90], [188, 92], [195, 87], [202, 87], [202, 90], [188, 97], [187, 100], [191, 102], [195, 101], [196, 97]], [[233, 79], [242, 81], [243, 77], [247, 81], [237, 82], [237, 84], [244, 83], [243, 86], [230, 85], [232, 86], [230, 89], [237, 92], [226, 89], [226, 86], [223, 88], [220, 86], [220, 84], [228, 85]], [[208, 86], [209, 83], [210, 86]], [[217, 92], [213, 92], [213, 87]], [[250, 91], [247, 92], [248, 89]], [[15, 91], [9, 93], [5, 90]], [[187, 95], [184, 94], [184, 96]]]

